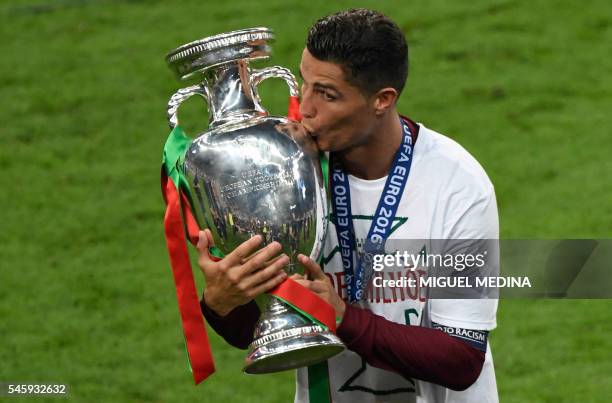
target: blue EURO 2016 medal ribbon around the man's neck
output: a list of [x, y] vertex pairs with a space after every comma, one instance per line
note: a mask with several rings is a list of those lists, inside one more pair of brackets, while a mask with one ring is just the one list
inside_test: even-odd
[[332, 160], [332, 206], [336, 216], [336, 234], [338, 235], [340, 256], [350, 303], [360, 301], [365, 297], [364, 290], [372, 276], [372, 256], [384, 253], [385, 242], [391, 233], [393, 219], [410, 174], [414, 146], [412, 133], [407, 122], [401, 118], [400, 122], [403, 132], [402, 143], [395, 154], [385, 187], [380, 195], [374, 219], [365, 241], [363, 259], [359, 259], [358, 253], [356, 253], [357, 244], [353, 227], [348, 175], [337, 160]]

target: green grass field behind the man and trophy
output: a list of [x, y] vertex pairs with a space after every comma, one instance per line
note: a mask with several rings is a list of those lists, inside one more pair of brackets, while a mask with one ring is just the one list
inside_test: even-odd
[[[263, 25], [277, 33], [267, 65], [297, 71], [310, 24], [355, 6], [407, 33], [400, 110], [482, 163], [503, 237], [610, 237], [608, 1], [4, 0], [0, 382], [67, 383], [75, 402], [292, 401], [291, 372], [242, 375], [244, 352], [216, 335], [218, 372], [193, 386], [159, 190], [165, 105], [184, 84], [163, 58]], [[264, 84], [274, 113], [283, 87]], [[199, 100], [181, 118], [206, 126]], [[612, 300], [502, 300], [502, 402], [610, 401], [610, 312]]]

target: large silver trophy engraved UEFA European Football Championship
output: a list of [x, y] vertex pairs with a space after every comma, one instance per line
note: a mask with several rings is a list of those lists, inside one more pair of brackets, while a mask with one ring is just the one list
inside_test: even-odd
[[[315, 150], [287, 133], [283, 117], [269, 116], [257, 85], [282, 78], [290, 95], [298, 85], [288, 69], [249, 67], [267, 58], [274, 39], [268, 28], [215, 35], [183, 45], [166, 56], [183, 88], [168, 103], [171, 128], [177, 110], [192, 95], [208, 105], [209, 128], [188, 148], [181, 168], [200, 228], [209, 228], [224, 253], [260, 234], [278, 241], [290, 258], [289, 275], [300, 273], [298, 253], [317, 259], [326, 232], [327, 202]], [[244, 371], [283, 371], [323, 361], [344, 349], [332, 332], [266, 294]]]

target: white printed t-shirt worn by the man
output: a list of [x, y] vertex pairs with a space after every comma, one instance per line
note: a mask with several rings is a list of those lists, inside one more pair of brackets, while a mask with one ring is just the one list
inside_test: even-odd
[[[478, 162], [455, 141], [419, 124], [411, 171], [394, 219], [388, 245], [396, 239], [497, 239], [497, 204], [491, 181]], [[366, 238], [386, 177], [363, 180], [349, 175], [353, 225], [358, 248]], [[392, 252], [392, 251], [391, 251]], [[418, 253], [418, 250], [414, 253]], [[324, 254], [324, 271], [345, 298], [343, 267], [338, 239], [330, 222]], [[399, 278], [418, 276], [424, 268], [376, 275]], [[413, 274], [410, 274], [412, 272]], [[496, 326], [497, 300], [426, 300], [424, 290], [372, 287], [358, 306], [386, 319], [410, 325], [438, 324], [473, 330]], [[356, 353], [345, 350], [328, 361], [332, 400], [355, 402], [497, 402], [497, 385], [491, 349], [478, 380], [456, 392], [439, 385], [406, 379], [368, 365]], [[308, 403], [308, 371], [297, 370], [295, 401]]]

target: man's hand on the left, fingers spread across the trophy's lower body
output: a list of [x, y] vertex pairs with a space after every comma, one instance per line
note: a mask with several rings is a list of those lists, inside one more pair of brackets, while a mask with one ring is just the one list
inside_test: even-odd
[[200, 254], [198, 265], [206, 279], [204, 300], [218, 315], [227, 315], [287, 278], [283, 267], [289, 263], [289, 257], [283, 254], [270, 261], [282, 249], [278, 242], [272, 242], [246, 260], [261, 242], [261, 235], [256, 235], [223, 260], [215, 262], [208, 252], [208, 248], [214, 245], [212, 233], [208, 229], [200, 231], [197, 249]]

